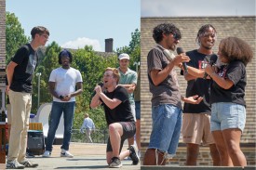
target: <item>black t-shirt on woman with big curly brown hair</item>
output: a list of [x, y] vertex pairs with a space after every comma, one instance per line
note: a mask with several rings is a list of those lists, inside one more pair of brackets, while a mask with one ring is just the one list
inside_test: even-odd
[[245, 87], [247, 85], [246, 67], [243, 62], [236, 60], [224, 65], [217, 74], [224, 79], [231, 80], [234, 85], [229, 89], [223, 89], [212, 81], [210, 88], [210, 103], [233, 102], [246, 106]]

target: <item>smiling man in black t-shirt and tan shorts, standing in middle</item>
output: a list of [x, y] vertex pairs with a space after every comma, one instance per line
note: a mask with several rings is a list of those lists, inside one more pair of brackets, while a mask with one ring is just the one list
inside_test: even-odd
[[[198, 105], [184, 103], [182, 120], [182, 137], [187, 147], [186, 165], [196, 165], [197, 155], [201, 142], [209, 145], [213, 165], [220, 164], [219, 152], [216, 149], [213, 137], [210, 133], [210, 105], [209, 105], [209, 78], [192, 75], [190, 69], [202, 72], [209, 62], [215, 62], [217, 56], [213, 54], [212, 47], [216, 40], [216, 30], [210, 25], [204, 25], [197, 33], [196, 43], [198, 49], [189, 51], [186, 55], [191, 59], [188, 65], [188, 73], [184, 75], [187, 80], [186, 96], [198, 95], [203, 101]], [[181, 72], [183, 74], [183, 72]]]

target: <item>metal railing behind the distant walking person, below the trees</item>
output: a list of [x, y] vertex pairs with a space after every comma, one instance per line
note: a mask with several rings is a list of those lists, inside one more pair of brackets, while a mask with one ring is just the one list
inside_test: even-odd
[[[95, 129], [90, 135], [93, 143], [107, 143], [109, 134], [108, 130]], [[72, 142], [88, 143], [86, 133], [81, 133], [80, 129], [72, 130]]]

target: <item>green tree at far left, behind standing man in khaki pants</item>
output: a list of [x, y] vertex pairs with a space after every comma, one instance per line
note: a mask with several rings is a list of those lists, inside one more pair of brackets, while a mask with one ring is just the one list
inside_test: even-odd
[[29, 38], [24, 34], [20, 21], [14, 13], [6, 13], [7, 57], [6, 62], [14, 56], [18, 48], [28, 43]]

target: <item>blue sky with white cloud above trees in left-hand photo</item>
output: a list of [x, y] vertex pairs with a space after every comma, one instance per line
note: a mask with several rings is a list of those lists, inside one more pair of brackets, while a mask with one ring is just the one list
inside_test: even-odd
[[7, 0], [6, 10], [20, 20], [27, 36], [34, 26], [50, 32], [48, 43], [62, 47], [93, 46], [105, 50], [105, 39], [114, 39], [114, 50], [128, 46], [131, 33], [141, 29], [140, 0]]

